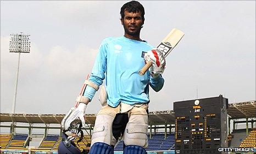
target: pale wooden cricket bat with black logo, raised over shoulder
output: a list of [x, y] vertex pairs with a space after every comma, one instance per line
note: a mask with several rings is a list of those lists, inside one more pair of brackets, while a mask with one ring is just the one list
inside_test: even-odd
[[[172, 49], [180, 42], [184, 33], [177, 28], [171, 30], [171, 32], [162, 40], [162, 42], [157, 46], [157, 48], [163, 51], [164, 58], [170, 54]], [[147, 70], [152, 66], [152, 62], [147, 62], [147, 64], [138, 72], [140, 75], [144, 75]]]

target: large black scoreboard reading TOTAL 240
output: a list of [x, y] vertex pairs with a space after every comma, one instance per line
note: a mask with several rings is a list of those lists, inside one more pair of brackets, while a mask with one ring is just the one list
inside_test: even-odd
[[175, 153], [220, 153], [227, 147], [228, 99], [212, 97], [174, 102]]

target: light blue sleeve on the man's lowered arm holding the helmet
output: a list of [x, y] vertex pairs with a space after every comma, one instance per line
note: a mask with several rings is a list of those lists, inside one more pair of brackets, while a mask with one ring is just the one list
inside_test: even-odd
[[[99, 51], [94, 62], [92, 73], [89, 79], [91, 82], [98, 86], [102, 85], [103, 80], [105, 79], [105, 72], [107, 71], [107, 49], [108, 45], [103, 41], [103, 43], [99, 47]], [[89, 98], [90, 101], [94, 97], [95, 93], [96, 90], [94, 88], [88, 85], [86, 86], [84, 96]]]

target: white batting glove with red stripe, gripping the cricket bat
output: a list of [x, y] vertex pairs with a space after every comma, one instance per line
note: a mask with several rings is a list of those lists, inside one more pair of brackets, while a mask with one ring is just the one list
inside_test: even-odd
[[153, 49], [148, 51], [144, 55], [146, 62], [152, 62], [152, 66], [149, 68], [149, 72], [153, 77], [163, 74], [165, 69], [165, 58], [163, 52], [159, 49]]

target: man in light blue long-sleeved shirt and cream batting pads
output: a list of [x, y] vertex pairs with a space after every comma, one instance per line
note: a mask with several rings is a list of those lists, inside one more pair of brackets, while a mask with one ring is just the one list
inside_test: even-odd
[[[121, 135], [124, 153], [146, 153], [149, 86], [158, 92], [164, 84], [163, 53], [140, 38], [143, 6], [137, 1], [128, 2], [121, 7], [120, 15], [124, 36], [103, 40], [91, 76], [85, 82], [84, 95], [62, 121], [64, 130], [76, 119], [84, 123], [87, 104], [105, 79], [99, 94], [103, 108], [96, 117], [90, 153], [113, 153]], [[139, 70], [148, 61], [153, 63], [152, 67], [140, 76]]]

